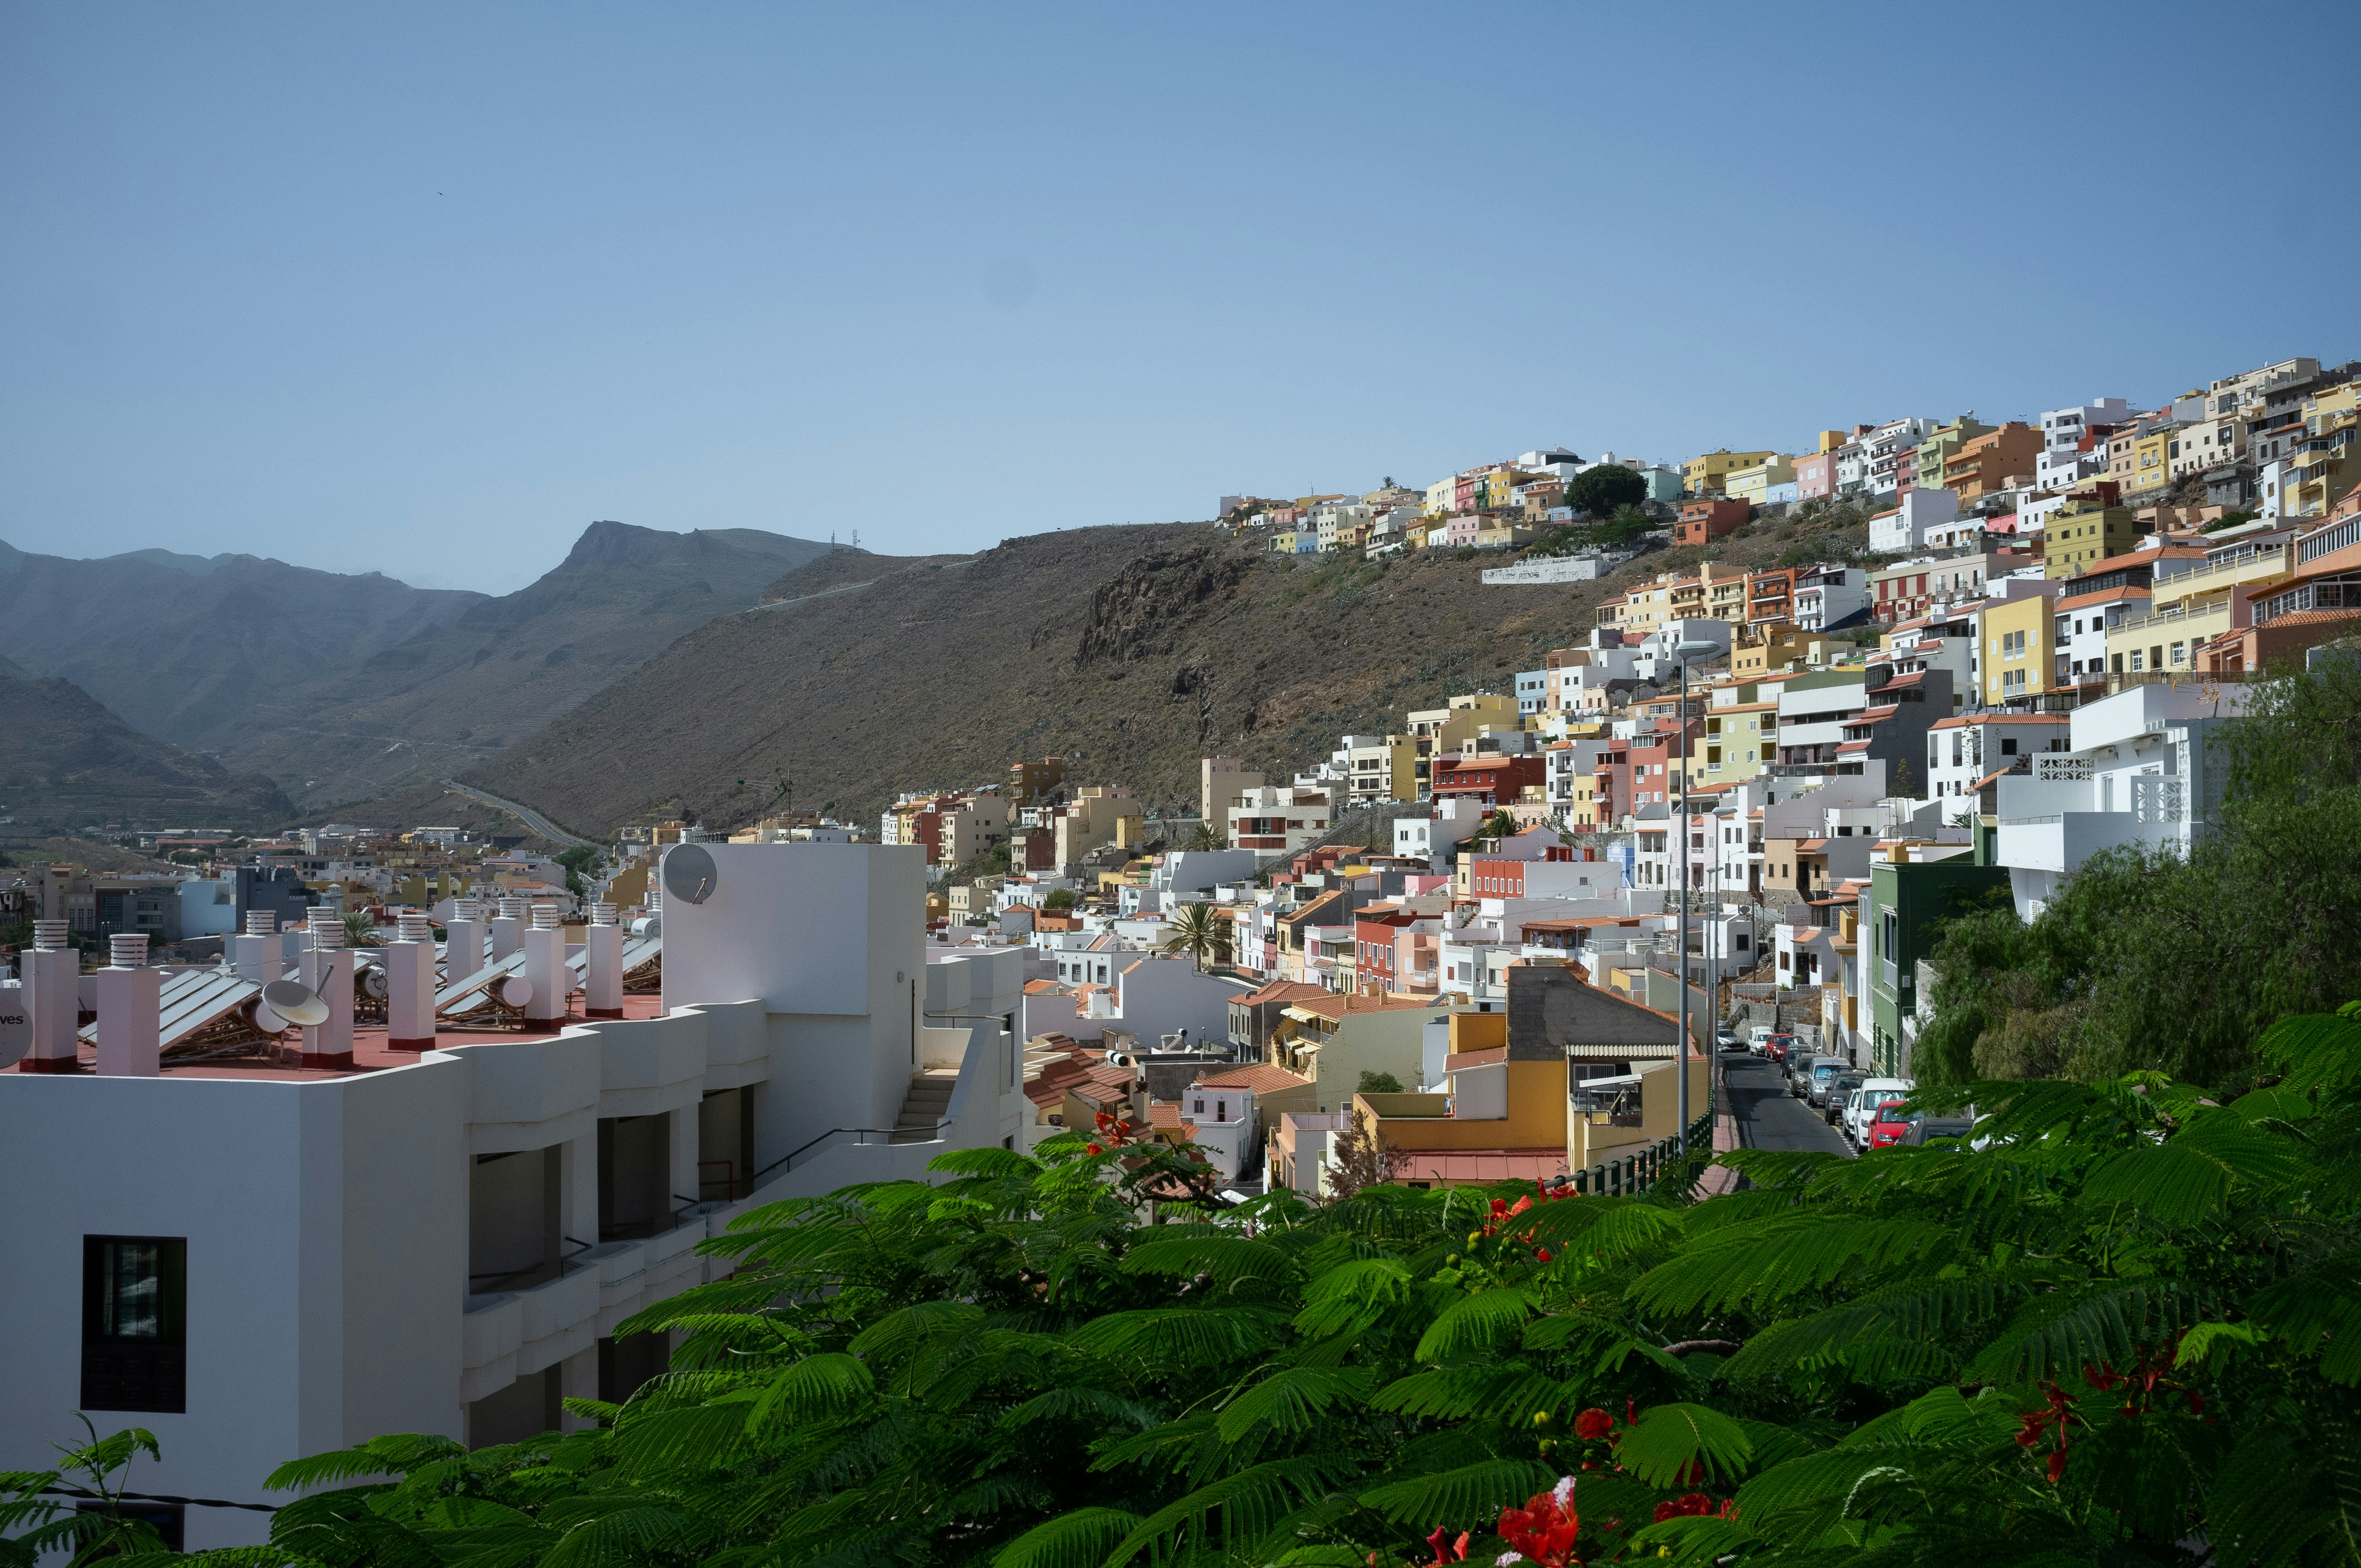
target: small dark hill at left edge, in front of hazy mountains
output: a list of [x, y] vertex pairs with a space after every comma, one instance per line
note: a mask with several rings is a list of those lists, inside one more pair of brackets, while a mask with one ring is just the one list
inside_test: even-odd
[[71, 680], [0, 668], [0, 815], [12, 836], [104, 827], [276, 827], [295, 815], [262, 775], [142, 734]]

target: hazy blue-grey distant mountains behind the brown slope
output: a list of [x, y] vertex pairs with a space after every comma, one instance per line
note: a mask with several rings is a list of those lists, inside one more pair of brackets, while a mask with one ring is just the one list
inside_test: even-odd
[[595, 522], [543, 579], [491, 597], [255, 555], [0, 543], [0, 656], [71, 680], [125, 734], [224, 777], [269, 775], [312, 812], [493, 758], [826, 553], [758, 529]]

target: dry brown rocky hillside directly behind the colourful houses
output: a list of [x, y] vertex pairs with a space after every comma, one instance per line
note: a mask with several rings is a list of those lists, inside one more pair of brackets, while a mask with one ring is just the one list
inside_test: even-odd
[[[897, 789], [1055, 753], [1074, 782], [1192, 810], [1209, 751], [1308, 765], [1339, 732], [1400, 730], [1402, 708], [1509, 692], [1591, 626], [1598, 583], [1485, 588], [1497, 560], [1273, 557], [1209, 524], [1011, 538], [713, 621], [467, 782], [578, 834], [678, 812], [737, 827], [781, 782], [874, 822]], [[796, 597], [798, 576], [763, 597]]]

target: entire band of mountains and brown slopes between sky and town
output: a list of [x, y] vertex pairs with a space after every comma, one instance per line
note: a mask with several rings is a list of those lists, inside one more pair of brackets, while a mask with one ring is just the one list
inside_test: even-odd
[[[142, 822], [475, 822], [442, 786], [460, 777], [576, 834], [739, 827], [784, 803], [874, 822], [900, 789], [1048, 753], [1072, 782], [1192, 810], [1199, 756], [1284, 775], [1339, 734], [1400, 730], [1402, 708], [1506, 692], [1629, 586], [1485, 588], [1483, 564], [1280, 557], [1211, 524], [885, 557], [600, 522], [548, 576], [486, 597], [250, 555], [0, 545], [0, 656], [31, 671], [19, 687], [50, 687], [0, 810], [26, 817], [47, 789], [66, 817], [120, 803], [68, 827], [130, 822], [132, 801], [163, 812]], [[170, 777], [109, 793], [73, 746], [123, 758], [142, 730]], [[172, 793], [191, 782], [222, 805]]]

